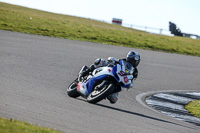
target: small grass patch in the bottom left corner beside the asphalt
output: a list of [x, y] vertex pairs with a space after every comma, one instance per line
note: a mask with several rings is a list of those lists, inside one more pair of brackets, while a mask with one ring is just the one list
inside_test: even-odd
[[27, 122], [20, 122], [13, 119], [0, 118], [1, 133], [60, 133], [59, 131], [39, 127]]

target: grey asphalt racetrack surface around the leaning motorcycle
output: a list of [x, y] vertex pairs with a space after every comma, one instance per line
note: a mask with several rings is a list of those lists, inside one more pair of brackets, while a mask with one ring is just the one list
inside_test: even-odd
[[[84, 64], [141, 54], [135, 87], [119, 101], [89, 104], [66, 95]], [[0, 30], [0, 117], [67, 133], [199, 133], [200, 127], [146, 108], [152, 91], [200, 90], [200, 58]]]

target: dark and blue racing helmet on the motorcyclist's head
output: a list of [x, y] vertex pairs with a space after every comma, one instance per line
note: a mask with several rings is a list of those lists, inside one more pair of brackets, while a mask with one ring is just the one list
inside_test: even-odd
[[140, 54], [135, 51], [129, 51], [126, 57], [126, 61], [131, 63], [133, 67], [137, 67], [140, 63]]

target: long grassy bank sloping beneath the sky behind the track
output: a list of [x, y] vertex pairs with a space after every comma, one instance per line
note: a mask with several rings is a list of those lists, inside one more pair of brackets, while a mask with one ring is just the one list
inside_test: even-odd
[[149, 34], [91, 19], [0, 2], [0, 29], [111, 45], [200, 56], [200, 40]]

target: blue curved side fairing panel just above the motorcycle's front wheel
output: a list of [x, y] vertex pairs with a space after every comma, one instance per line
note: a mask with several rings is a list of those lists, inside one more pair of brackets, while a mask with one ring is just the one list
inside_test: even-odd
[[103, 80], [103, 79], [107, 78], [108, 76], [109, 75], [105, 74], [105, 75], [101, 75], [99, 77], [91, 78], [90, 80], [88, 80], [87, 83], [86, 83], [87, 89], [88, 89], [88, 94], [91, 93], [95, 82]]

